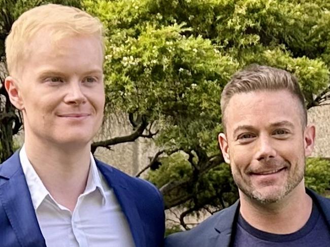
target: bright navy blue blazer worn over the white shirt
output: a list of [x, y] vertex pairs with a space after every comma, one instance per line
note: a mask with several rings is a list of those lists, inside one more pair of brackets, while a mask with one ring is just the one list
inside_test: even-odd
[[[117, 196], [136, 247], [162, 246], [164, 207], [159, 191], [147, 181], [95, 161]], [[0, 165], [0, 246], [46, 247], [18, 152]]]

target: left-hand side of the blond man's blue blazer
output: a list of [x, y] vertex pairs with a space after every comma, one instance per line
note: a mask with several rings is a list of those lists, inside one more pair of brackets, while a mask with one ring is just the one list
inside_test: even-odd
[[1, 165], [0, 203], [22, 246], [46, 246], [32, 205], [18, 151]]

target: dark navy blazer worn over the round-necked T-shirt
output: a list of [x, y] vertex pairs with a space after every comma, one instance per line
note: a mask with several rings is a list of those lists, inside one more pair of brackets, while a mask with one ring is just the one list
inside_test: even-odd
[[[307, 194], [318, 205], [330, 230], [330, 199], [306, 189]], [[235, 226], [239, 213], [239, 200], [222, 209], [189, 231], [171, 234], [165, 239], [164, 247], [229, 247], [235, 237]]]

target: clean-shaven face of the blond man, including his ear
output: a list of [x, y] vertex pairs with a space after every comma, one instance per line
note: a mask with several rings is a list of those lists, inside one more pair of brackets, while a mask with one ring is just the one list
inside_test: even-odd
[[54, 44], [47, 31], [39, 32], [17, 77], [7, 78], [6, 88], [23, 113], [27, 137], [58, 145], [91, 141], [105, 104], [100, 41], [76, 36]]

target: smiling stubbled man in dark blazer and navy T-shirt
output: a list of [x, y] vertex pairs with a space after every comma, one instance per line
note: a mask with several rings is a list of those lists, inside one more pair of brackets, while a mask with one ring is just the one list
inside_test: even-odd
[[298, 80], [250, 66], [224, 87], [221, 111], [219, 144], [240, 199], [165, 246], [330, 246], [330, 200], [304, 184], [315, 127]]

